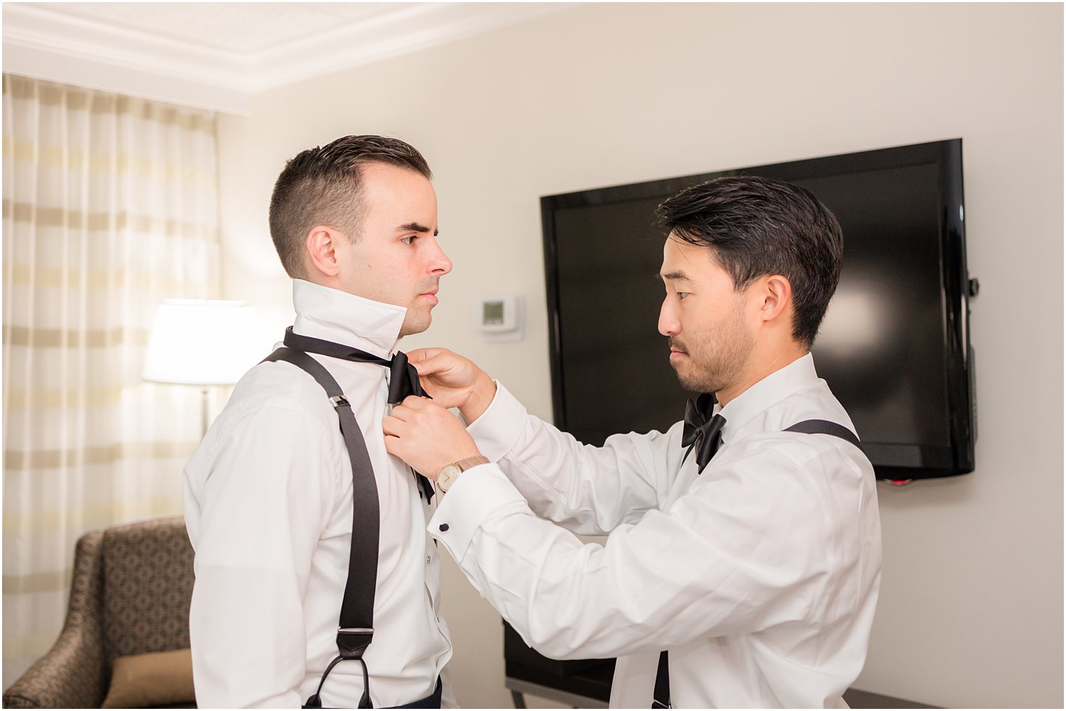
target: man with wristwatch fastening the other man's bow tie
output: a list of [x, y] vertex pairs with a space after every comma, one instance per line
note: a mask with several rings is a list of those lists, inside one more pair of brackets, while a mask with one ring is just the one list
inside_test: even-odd
[[843, 707], [882, 561], [873, 468], [809, 352], [840, 227], [809, 192], [749, 176], [659, 212], [659, 331], [704, 393], [684, 420], [586, 447], [427, 349], [411, 362], [435, 399], [393, 409], [386, 448], [447, 491], [430, 533], [530, 645], [618, 657], [612, 707]]

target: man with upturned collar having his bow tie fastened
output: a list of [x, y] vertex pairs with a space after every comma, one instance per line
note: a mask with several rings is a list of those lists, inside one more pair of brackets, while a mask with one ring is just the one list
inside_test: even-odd
[[455, 706], [437, 499], [382, 433], [421, 394], [397, 346], [430, 326], [452, 267], [430, 179], [402, 140], [345, 136], [275, 183], [296, 318], [184, 472], [201, 708]]

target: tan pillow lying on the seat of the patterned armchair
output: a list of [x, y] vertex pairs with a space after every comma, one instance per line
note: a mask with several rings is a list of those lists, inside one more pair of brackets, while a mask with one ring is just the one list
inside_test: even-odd
[[115, 660], [111, 688], [100, 708], [143, 709], [195, 699], [192, 650], [152, 651]]

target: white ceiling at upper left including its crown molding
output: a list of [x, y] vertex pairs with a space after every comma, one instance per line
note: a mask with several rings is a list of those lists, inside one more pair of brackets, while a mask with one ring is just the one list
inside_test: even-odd
[[5, 2], [3, 69], [244, 114], [257, 92], [574, 4]]

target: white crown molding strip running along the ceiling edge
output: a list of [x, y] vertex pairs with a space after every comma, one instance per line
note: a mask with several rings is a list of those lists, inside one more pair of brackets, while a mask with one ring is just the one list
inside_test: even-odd
[[397, 3], [361, 22], [235, 52], [4, 3], [4, 71], [247, 115], [252, 95], [498, 29], [580, 3]]

